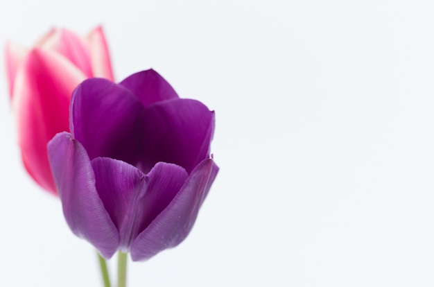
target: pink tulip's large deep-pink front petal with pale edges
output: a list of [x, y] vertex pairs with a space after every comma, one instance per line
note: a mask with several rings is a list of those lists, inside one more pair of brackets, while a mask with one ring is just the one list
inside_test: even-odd
[[46, 143], [69, 130], [69, 101], [85, 75], [61, 55], [33, 49], [17, 71], [12, 105], [17, 116], [18, 141], [28, 173], [55, 193]]

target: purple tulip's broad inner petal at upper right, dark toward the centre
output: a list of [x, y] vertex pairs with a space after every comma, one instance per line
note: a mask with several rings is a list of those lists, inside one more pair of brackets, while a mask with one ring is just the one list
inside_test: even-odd
[[209, 157], [214, 132], [214, 112], [199, 101], [173, 99], [150, 105], [144, 110], [140, 133], [144, 173], [157, 162], [182, 166], [187, 173]]

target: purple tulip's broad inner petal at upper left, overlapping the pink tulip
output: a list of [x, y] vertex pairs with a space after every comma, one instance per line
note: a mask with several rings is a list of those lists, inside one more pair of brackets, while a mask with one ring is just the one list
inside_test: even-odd
[[71, 131], [90, 159], [111, 157], [136, 164], [142, 110], [128, 89], [102, 78], [85, 80], [73, 92]]

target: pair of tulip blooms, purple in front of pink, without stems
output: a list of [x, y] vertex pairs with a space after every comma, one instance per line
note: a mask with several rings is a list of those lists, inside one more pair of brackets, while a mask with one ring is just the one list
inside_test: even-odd
[[153, 70], [114, 83], [101, 28], [6, 51], [24, 165], [73, 233], [134, 261], [182, 242], [218, 173], [214, 112]]

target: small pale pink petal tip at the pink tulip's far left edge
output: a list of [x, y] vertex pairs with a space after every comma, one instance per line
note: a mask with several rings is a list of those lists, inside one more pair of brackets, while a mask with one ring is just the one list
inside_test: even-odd
[[17, 75], [17, 69], [19, 69], [19, 65], [23, 62], [24, 57], [26, 57], [28, 53], [28, 49], [19, 44], [15, 44], [12, 42], [6, 43], [6, 76], [8, 76], [8, 84], [9, 84], [9, 95], [12, 98], [12, 94], [14, 92], [14, 82], [15, 76]]

